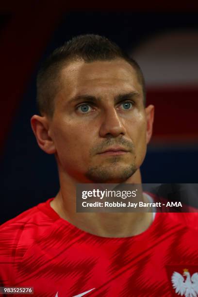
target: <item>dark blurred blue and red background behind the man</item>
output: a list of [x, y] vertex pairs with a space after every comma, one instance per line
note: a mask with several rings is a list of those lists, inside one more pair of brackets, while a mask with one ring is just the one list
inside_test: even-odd
[[147, 104], [155, 105], [153, 138], [141, 167], [144, 183], [198, 182], [198, 10], [149, 2], [132, 7], [70, 7], [66, 1], [0, 4], [0, 223], [54, 197], [54, 157], [38, 148], [36, 73], [73, 36], [104, 35], [141, 66]]

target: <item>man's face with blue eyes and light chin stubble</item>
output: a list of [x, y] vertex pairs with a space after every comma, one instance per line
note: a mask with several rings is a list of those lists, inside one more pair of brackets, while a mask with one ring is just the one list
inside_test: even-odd
[[49, 124], [59, 170], [79, 182], [123, 182], [148, 139], [142, 86], [124, 60], [71, 62], [61, 72]]

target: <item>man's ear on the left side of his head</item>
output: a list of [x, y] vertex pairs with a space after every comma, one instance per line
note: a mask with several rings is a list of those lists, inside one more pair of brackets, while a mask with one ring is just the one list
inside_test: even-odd
[[31, 126], [38, 146], [48, 154], [54, 154], [56, 148], [53, 139], [49, 136], [49, 120], [46, 116], [33, 115]]

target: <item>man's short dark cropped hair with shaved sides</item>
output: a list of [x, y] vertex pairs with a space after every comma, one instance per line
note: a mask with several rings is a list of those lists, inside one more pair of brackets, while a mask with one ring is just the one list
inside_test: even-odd
[[60, 72], [63, 66], [72, 61], [83, 60], [85, 63], [124, 59], [135, 69], [142, 85], [144, 104], [146, 105], [145, 80], [140, 66], [114, 42], [106, 37], [85, 34], [73, 37], [62, 47], [55, 49], [44, 61], [37, 75], [37, 105], [39, 113], [53, 116], [54, 97], [60, 84]]

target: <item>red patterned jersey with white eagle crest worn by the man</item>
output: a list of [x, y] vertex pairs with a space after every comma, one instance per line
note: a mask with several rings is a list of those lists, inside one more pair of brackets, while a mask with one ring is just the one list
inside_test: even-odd
[[38, 297], [169, 297], [188, 279], [196, 292], [197, 213], [156, 213], [143, 233], [106, 238], [60, 218], [50, 201], [0, 227], [0, 286]]

